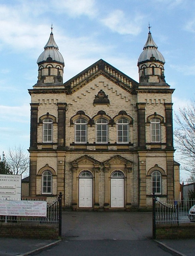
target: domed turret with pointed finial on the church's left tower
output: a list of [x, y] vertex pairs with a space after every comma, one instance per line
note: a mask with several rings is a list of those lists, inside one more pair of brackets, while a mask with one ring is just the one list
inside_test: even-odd
[[64, 59], [58, 51], [52, 29], [51, 25], [49, 40], [44, 47], [44, 52], [37, 59], [39, 66], [37, 85], [45, 83], [59, 85], [63, 83]]

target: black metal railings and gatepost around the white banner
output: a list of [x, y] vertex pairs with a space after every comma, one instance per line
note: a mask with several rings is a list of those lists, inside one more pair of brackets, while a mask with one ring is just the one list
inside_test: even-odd
[[[12, 199], [13, 200], [13, 199]], [[45, 201], [42, 198], [24, 198], [22, 200], [28, 201]], [[58, 224], [59, 236], [61, 236], [61, 219], [62, 219], [62, 193], [60, 192], [58, 200], [54, 203], [47, 202], [47, 216], [4, 216], [0, 215], [0, 222], [37, 222], [40, 224]]]

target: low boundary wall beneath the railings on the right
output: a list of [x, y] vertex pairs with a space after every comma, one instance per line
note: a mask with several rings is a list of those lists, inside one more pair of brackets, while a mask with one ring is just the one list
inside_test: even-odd
[[156, 239], [194, 239], [195, 223], [156, 225]]

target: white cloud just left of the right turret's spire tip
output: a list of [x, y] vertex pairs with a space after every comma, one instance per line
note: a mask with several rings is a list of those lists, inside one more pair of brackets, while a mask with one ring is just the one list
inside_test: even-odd
[[139, 14], [134, 18], [127, 18], [123, 11], [114, 10], [106, 18], [103, 18], [101, 22], [113, 32], [137, 35], [141, 32], [141, 20], [143, 18], [144, 16]]

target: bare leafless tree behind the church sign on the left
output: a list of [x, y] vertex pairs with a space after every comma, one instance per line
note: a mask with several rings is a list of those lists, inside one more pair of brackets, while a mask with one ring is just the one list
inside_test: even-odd
[[10, 167], [11, 174], [19, 175], [29, 173], [29, 156], [20, 145], [9, 148], [7, 163]]

